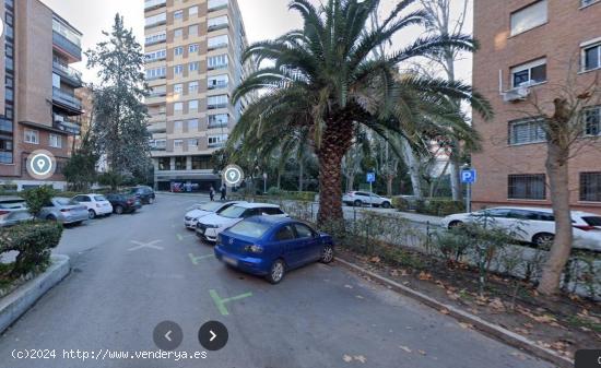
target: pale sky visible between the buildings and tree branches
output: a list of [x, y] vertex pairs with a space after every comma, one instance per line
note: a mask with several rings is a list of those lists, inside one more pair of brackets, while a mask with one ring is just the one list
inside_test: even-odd
[[[126, 26], [133, 28], [138, 40], [144, 39], [144, 0], [40, 0], [55, 12], [68, 20], [83, 33], [82, 48], [93, 48], [104, 39], [103, 31], [109, 31], [116, 13], [125, 17]], [[302, 25], [300, 16], [287, 9], [288, 0], [238, 0], [246, 26], [249, 43], [274, 38], [290, 29]], [[318, 2], [318, 0], [314, 0]], [[382, 0], [381, 11], [386, 13], [398, 1]], [[451, 3], [459, 3], [451, 0]], [[459, 7], [457, 7], [459, 8]], [[471, 32], [471, 16], [468, 16], [466, 32]], [[389, 46], [390, 51], [401, 48], [405, 39], [412, 39], [421, 34], [421, 29], [409, 29], [399, 34]], [[86, 70], [85, 60], [73, 67], [83, 72], [85, 82], [95, 82], [96, 73]], [[458, 76], [464, 81], [471, 80], [471, 58], [461, 60], [457, 66]]]

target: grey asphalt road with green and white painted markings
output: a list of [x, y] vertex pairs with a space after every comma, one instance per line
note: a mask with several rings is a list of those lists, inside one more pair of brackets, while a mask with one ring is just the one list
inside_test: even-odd
[[[71, 257], [73, 272], [0, 336], [0, 367], [552, 367], [335, 263], [291, 272], [276, 286], [231, 270], [184, 229], [193, 201], [160, 195], [138, 214], [67, 229], [57, 252]], [[205, 359], [131, 358], [157, 351], [153, 329], [165, 320], [182, 329], [177, 352], [204, 351], [197, 334], [210, 320], [227, 327], [229, 341]], [[24, 349], [56, 349], [56, 358], [12, 357]], [[130, 356], [64, 358], [71, 349]]]

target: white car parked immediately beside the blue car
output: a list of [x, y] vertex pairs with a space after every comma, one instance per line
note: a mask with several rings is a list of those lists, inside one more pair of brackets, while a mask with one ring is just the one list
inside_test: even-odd
[[199, 218], [197, 236], [209, 242], [215, 242], [217, 235], [240, 221], [252, 216], [282, 216], [287, 214], [276, 204], [269, 203], [239, 203], [234, 204], [219, 214], [214, 213]]

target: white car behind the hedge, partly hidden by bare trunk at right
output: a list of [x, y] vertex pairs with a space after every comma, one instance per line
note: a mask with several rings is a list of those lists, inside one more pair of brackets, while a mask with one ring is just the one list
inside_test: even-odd
[[[535, 246], [549, 246], [555, 238], [555, 217], [551, 209], [495, 207], [472, 213], [458, 213], [443, 218], [441, 225], [451, 228], [464, 223], [488, 218], [491, 225], [511, 229], [518, 240]], [[601, 215], [571, 211], [574, 248], [601, 251]]]

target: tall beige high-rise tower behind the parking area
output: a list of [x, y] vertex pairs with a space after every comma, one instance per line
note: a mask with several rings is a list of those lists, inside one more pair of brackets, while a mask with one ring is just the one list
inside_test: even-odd
[[248, 73], [236, 0], [145, 0], [146, 99], [155, 187], [217, 188], [212, 154], [223, 147], [245, 103], [229, 102]]

